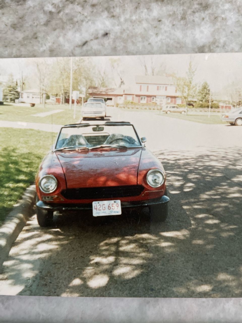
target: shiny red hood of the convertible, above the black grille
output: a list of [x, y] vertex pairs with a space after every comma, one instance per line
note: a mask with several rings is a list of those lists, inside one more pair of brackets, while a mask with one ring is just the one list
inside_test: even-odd
[[56, 155], [67, 188], [136, 185], [142, 148], [61, 151]]

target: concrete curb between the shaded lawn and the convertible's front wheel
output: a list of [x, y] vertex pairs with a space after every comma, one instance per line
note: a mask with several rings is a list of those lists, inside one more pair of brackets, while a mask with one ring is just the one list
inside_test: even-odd
[[35, 196], [35, 185], [31, 185], [26, 189], [22, 199], [14, 205], [13, 210], [0, 227], [0, 273], [13, 243], [28, 221], [30, 214], [32, 214]]

